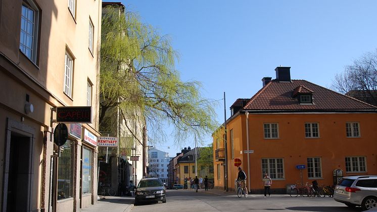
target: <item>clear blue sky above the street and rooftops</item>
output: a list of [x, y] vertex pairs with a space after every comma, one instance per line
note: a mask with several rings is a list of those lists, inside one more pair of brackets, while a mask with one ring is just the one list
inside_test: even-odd
[[[121, 2], [171, 37], [183, 81], [201, 81], [206, 98], [222, 99], [226, 92], [227, 118], [236, 99], [251, 98], [263, 77], [275, 78], [276, 66], [291, 66], [292, 79], [330, 88], [336, 73], [377, 48], [377, 1]], [[220, 101], [220, 123], [223, 107]], [[175, 156], [181, 147], [173, 142], [157, 148]]]

